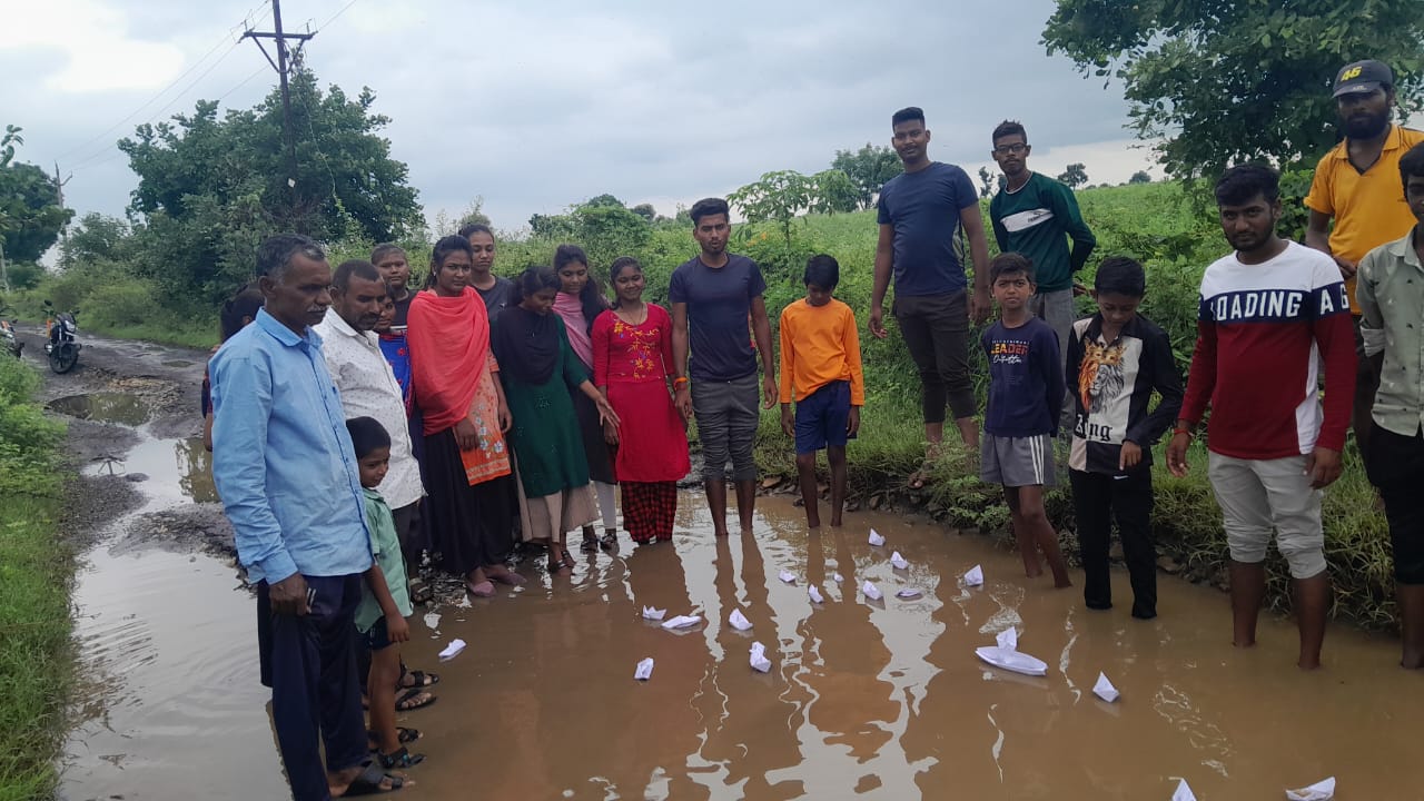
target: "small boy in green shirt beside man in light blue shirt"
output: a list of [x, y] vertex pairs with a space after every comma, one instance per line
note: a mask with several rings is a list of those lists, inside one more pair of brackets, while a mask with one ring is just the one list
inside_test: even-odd
[[[390, 433], [372, 418], [346, 420], [356, 450], [360, 486], [366, 495], [366, 527], [375, 562], [366, 572], [365, 591], [356, 607], [356, 630], [370, 648], [370, 673], [366, 694], [370, 698], [370, 730], [383, 768], [409, 768], [424, 760], [400, 744], [396, 728], [396, 684], [400, 683], [400, 647], [410, 640], [410, 593], [406, 584], [406, 560], [400, 556], [396, 520], [376, 486], [386, 477], [390, 463]], [[406, 782], [407, 785], [412, 782]]]

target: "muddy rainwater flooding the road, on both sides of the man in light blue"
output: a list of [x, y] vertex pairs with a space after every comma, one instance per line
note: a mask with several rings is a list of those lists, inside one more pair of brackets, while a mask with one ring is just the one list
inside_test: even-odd
[[[125, 459], [117, 469], [150, 476], [140, 512], [214, 497], [201, 443], [145, 436]], [[672, 544], [625, 540], [581, 556], [572, 579], [524, 564], [521, 590], [417, 607], [407, 661], [443, 680], [434, 706], [403, 715], [427, 761], [399, 797], [1136, 801], [1186, 778], [1213, 801], [1282, 798], [1326, 775], [1341, 801], [1424, 797], [1424, 677], [1396, 667], [1393, 637], [1334, 626], [1326, 668], [1306, 674], [1290, 621], [1263, 620], [1259, 647], [1232, 648], [1215, 590], [1163, 577], [1162, 617], [1138, 621], [1125, 574], [1118, 609], [1094, 613], [1077, 590], [1025, 580], [985, 537], [887, 513], [847, 522], [807, 533], [799, 509], [763, 497], [753, 536], [715, 540], [701, 496], [684, 493]], [[867, 544], [871, 526], [884, 547]], [[964, 587], [974, 564], [984, 586]], [[857, 591], [867, 579], [884, 600]], [[924, 596], [894, 597], [903, 587]], [[66, 798], [288, 797], [232, 564], [101, 544], [75, 604], [94, 691]], [[705, 621], [666, 631], [642, 606]], [[726, 623], [733, 609], [750, 631]], [[975, 657], [1008, 626], [1045, 677]], [[439, 663], [456, 637], [468, 647]], [[766, 674], [748, 664], [753, 641]], [[635, 681], [644, 657], [652, 678]], [[1099, 671], [1118, 703], [1092, 696]]]

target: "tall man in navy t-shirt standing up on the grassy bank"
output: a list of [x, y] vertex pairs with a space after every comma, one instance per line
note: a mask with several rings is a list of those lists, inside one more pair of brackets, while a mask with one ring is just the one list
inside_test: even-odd
[[[988, 318], [988, 242], [980, 217], [978, 194], [970, 177], [953, 164], [930, 161], [930, 131], [924, 111], [896, 111], [890, 120], [891, 144], [904, 172], [880, 190], [880, 241], [876, 245], [876, 285], [870, 299], [870, 334], [884, 339], [886, 289], [894, 272], [894, 306], [900, 334], [920, 371], [924, 438], [930, 442], [926, 463], [910, 476], [911, 489], [924, 486], [930, 460], [944, 440], [944, 406], [948, 403], [960, 436], [978, 450], [974, 422], [974, 385], [970, 379], [970, 316]], [[974, 295], [967, 291], [964, 265], [954, 249], [960, 227], [970, 241], [974, 262]]]

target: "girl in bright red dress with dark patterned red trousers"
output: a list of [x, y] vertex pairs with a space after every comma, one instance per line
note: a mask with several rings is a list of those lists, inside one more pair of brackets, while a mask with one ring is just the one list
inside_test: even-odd
[[642, 265], [622, 257], [608, 268], [617, 304], [594, 321], [594, 383], [624, 420], [605, 429], [617, 448], [624, 527], [638, 544], [671, 540], [678, 479], [688, 475], [686, 420], [672, 405], [672, 318], [644, 302]]

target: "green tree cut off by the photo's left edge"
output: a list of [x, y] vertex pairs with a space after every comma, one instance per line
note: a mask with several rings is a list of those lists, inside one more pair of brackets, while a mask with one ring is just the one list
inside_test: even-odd
[[21, 144], [20, 128], [6, 125], [0, 137], [0, 258], [38, 261], [74, 212], [60, 205], [60, 191], [44, 170], [14, 160]]

